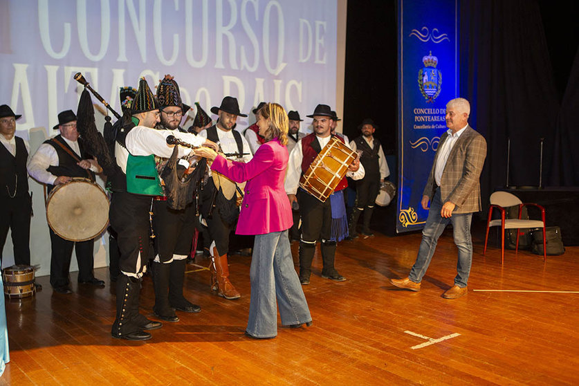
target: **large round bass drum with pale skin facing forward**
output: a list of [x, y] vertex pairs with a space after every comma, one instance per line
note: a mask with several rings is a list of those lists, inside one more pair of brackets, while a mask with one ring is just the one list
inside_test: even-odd
[[102, 187], [87, 178], [57, 185], [46, 201], [46, 220], [68, 241], [86, 241], [109, 225], [109, 199]]

